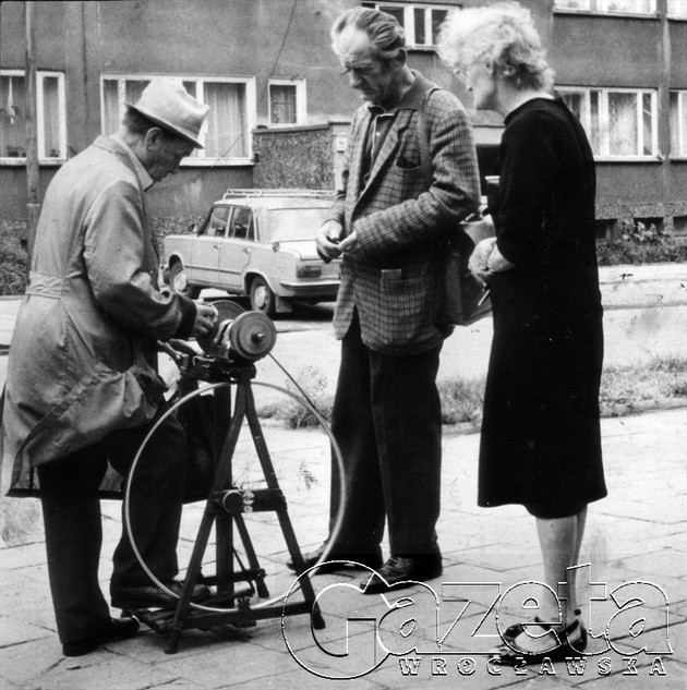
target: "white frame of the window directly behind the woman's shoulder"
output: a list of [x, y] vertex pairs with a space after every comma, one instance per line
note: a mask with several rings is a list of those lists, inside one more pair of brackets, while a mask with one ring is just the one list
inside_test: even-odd
[[[559, 96], [564, 94], [580, 94], [582, 104], [580, 108], [580, 122], [584, 128], [584, 132], [592, 141], [592, 120], [591, 120], [591, 93], [599, 93], [599, 147], [600, 152], [594, 153], [594, 160], [612, 161], [612, 162], [649, 162], [662, 160], [659, 149], [659, 89], [658, 88], [625, 88], [620, 86], [567, 86], [557, 85], [556, 92]], [[608, 95], [610, 94], [635, 94], [636, 96], [636, 117], [637, 117], [637, 150], [643, 149], [643, 118], [642, 118], [642, 96], [649, 94], [651, 96], [651, 153], [650, 154], [613, 154], [611, 153], [611, 129], [608, 113]]]

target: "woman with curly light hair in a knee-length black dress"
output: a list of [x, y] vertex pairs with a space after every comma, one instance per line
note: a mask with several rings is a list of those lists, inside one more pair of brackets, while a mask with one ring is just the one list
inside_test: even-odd
[[593, 156], [578, 120], [550, 94], [553, 75], [528, 10], [508, 3], [457, 13], [439, 50], [474, 107], [506, 124], [490, 206], [496, 239], [471, 259], [494, 308], [478, 501], [523, 505], [537, 519], [544, 582], [553, 592], [568, 583], [561, 610], [555, 597], [540, 602], [551, 625], [511, 627], [498, 653], [505, 663], [564, 658], [587, 642], [575, 571], [566, 569], [578, 562], [587, 505], [606, 495]]

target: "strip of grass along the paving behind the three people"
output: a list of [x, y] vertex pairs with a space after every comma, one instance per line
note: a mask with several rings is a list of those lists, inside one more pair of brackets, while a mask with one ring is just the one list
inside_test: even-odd
[[[324, 374], [315, 366], [306, 366], [296, 378], [317, 411], [329, 421], [334, 398]], [[478, 431], [482, 423], [484, 384], [484, 376], [439, 382], [442, 423], [448, 426], [468, 425], [469, 431]], [[289, 388], [298, 392], [292, 385]], [[600, 405], [601, 416], [604, 417], [687, 405], [687, 360], [656, 356], [641, 364], [605, 366]], [[294, 401], [264, 405], [258, 414], [263, 419], [280, 421], [288, 428], [317, 425], [316, 417]]]

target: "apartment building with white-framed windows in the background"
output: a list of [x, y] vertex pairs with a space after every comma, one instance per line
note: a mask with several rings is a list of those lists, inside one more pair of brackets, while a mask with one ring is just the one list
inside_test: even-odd
[[[152, 191], [157, 215], [190, 216], [227, 187], [333, 187], [359, 104], [329, 27], [363, 4], [397, 16], [409, 63], [470, 109], [482, 174], [494, 172], [496, 113], [438, 60], [451, 10], [489, 0], [137, 0], [34, 2], [40, 183], [101, 131], [155, 75], [183, 80], [210, 106], [205, 147]], [[622, 220], [687, 238], [687, 0], [521, 0], [582, 121], [598, 164], [600, 233]], [[0, 4], [0, 216], [25, 216], [25, 10]]]

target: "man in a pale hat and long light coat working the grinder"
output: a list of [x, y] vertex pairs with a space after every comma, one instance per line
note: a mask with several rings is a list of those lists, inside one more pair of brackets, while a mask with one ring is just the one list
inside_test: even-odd
[[[144, 194], [201, 147], [207, 110], [181, 82], [154, 80], [135, 106], [128, 104], [120, 130], [64, 164], [45, 196], [10, 349], [3, 455], [14, 462], [13, 486], [38, 477], [50, 590], [68, 656], [138, 628], [135, 618], [110, 617], [98, 584], [98, 487], [108, 463], [126, 475], [166, 410], [157, 341], [213, 327], [213, 307], [158, 286]], [[170, 417], [140, 459], [130, 504], [144, 562], [177, 593], [185, 452], [183, 429]], [[113, 561], [113, 607], [176, 601], [152, 586], [126, 534]], [[193, 593], [208, 594], [205, 586]]]

